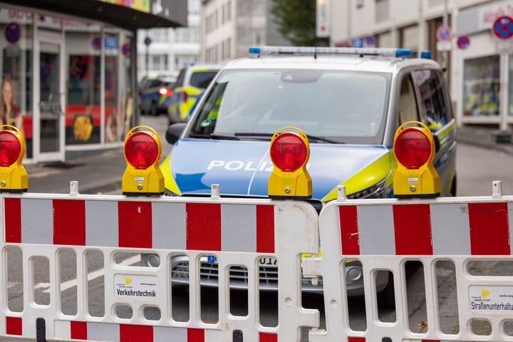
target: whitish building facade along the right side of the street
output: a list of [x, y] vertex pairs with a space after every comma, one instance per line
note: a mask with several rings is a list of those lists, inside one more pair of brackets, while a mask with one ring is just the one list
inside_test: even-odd
[[[331, 45], [428, 49], [447, 68], [459, 125], [513, 124], [513, 40], [492, 33], [512, 0], [331, 0]], [[437, 51], [437, 29], [452, 31], [450, 52]], [[467, 36], [468, 46], [457, 46]]]

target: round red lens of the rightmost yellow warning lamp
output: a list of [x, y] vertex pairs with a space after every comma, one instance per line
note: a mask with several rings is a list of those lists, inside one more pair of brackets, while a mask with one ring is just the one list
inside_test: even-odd
[[395, 140], [395, 157], [408, 169], [423, 166], [431, 155], [431, 142], [420, 130], [403, 130]]

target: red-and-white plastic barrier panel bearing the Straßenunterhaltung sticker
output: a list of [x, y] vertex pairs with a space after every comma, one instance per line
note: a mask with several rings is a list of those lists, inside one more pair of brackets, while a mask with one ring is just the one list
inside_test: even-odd
[[[304, 259], [303, 268], [305, 276], [322, 276], [326, 330], [311, 330], [310, 341], [513, 341], [513, 197], [338, 199], [322, 209], [319, 229], [322, 255]], [[366, 328], [359, 331], [346, 300], [348, 260], [363, 266]], [[410, 261], [424, 279], [418, 288], [408, 286]], [[439, 298], [441, 261], [453, 265], [453, 301]], [[494, 274], [500, 263], [509, 271]], [[393, 274], [391, 321], [378, 312], [382, 271]], [[420, 323], [410, 321], [408, 291], [425, 291]], [[442, 328], [447, 310], [457, 317], [452, 331]]]

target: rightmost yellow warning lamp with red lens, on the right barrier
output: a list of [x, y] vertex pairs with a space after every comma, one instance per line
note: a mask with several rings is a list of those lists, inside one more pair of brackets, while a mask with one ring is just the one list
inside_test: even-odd
[[435, 140], [426, 125], [418, 121], [400, 125], [395, 132], [393, 153], [398, 162], [393, 178], [395, 197], [440, 196], [440, 177], [432, 163]]

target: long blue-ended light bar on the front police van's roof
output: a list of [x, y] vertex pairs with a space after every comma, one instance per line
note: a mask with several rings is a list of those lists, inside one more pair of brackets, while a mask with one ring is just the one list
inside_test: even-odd
[[296, 54], [296, 55], [364, 55], [411, 57], [409, 48], [327, 48], [312, 46], [252, 46], [249, 53], [254, 55]]

